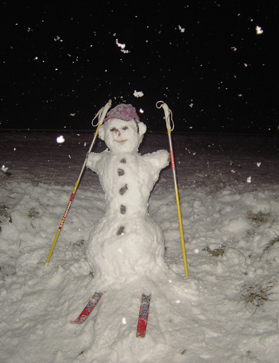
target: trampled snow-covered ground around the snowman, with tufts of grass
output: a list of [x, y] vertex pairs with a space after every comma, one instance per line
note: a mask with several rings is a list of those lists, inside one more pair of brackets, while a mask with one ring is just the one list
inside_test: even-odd
[[[279, 139], [173, 134], [189, 276], [184, 276], [172, 170], [149, 213], [173, 279], [156, 277], [145, 338], [136, 338], [143, 287], [94, 293], [85, 251], [104, 214], [86, 169], [48, 268], [45, 262], [93, 139], [91, 133], [2, 133], [0, 362], [275, 363], [279, 356]], [[94, 152], [105, 149], [98, 140]], [[168, 149], [145, 136], [142, 154]], [[8, 169], [6, 169], [8, 168]]]

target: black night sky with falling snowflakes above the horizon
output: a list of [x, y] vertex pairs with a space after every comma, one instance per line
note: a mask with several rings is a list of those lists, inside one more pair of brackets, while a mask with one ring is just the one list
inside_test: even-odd
[[151, 131], [162, 100], [174, 131], [279, 133], [277, 0], [39, 3], [2, 2], [0, 129], [93, 130], [111, 98]]

